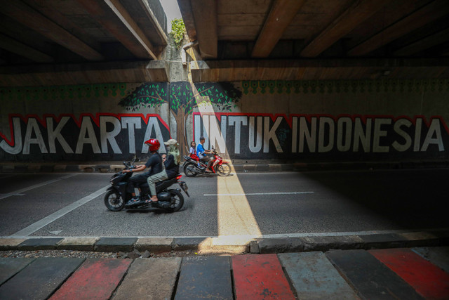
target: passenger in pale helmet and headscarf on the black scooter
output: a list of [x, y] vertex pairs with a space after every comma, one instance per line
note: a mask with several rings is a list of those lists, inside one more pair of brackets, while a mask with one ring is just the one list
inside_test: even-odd
[[152, 193], [152, 197], [149, 198], [147, 202], [158, 201], [156, 195], [156, 182], [175, 177], [179, 173], [181, 162], [179, 144], [173, 138], [170, 138], [170, 140], [166, 141], [164, 144], [167, 146], [167, 159], [163, 163], [164, 167], [160, 173], [154, 174], [147, 178], [149, 190]]

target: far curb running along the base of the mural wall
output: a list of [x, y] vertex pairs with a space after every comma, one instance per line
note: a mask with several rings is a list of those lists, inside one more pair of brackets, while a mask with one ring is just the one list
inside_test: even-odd
[[[328, 170], [374, 170], [374, 169], [446, 169], [449, 160], [437, 161], [405, 161], [405, 162], [291, 162], [270, 163], [256, 161], [256, 163], [234, 162], [232, 166], [236, 172], [281, 172], [281, 171], [328, 171]], [[15, 163], [0, 164], [0, 173], [12, 172], [83, 172], [83, 173], [116, 173], [123, 170], [119, 162], [91, 164], [61, 164], [61, 163]]]

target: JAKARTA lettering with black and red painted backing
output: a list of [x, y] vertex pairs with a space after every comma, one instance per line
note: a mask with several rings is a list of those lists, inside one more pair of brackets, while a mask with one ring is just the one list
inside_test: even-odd
[[6, 160], [129, 159], [147, 154], [149, 138], [170, 138], [166, 122], [150, 114], [10, 115], [10, 126], [13, 138], [0, 142]]

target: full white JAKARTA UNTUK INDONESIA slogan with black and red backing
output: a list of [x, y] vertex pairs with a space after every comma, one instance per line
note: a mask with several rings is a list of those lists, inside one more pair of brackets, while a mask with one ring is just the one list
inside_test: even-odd
[[[221, 112], [193, 113], [194, 133], [206, 146], [215, 145], [230, 157], [373, 157], [382, 154], [420, 157], [446, 155], [449, 131], [441, 117], [269, 115]], [[11, 141], [0, 133], [3, 155], [81, 159], [128, 159], [147, 154], [144, 141], [170, 138], [159, 115], [83, 114], [10, 115]], [[161, 152], [164, 150], [161, 148]], [[437, 155], [438, 156], [438, 155]]]

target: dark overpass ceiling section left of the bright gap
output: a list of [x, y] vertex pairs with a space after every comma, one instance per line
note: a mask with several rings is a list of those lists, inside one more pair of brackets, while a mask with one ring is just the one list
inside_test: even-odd
[[1, 86], [168, 80], [157, 62], [168, 42], [159, 0], [0, 5]]

